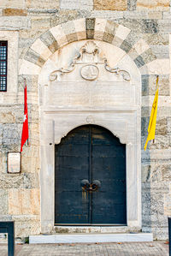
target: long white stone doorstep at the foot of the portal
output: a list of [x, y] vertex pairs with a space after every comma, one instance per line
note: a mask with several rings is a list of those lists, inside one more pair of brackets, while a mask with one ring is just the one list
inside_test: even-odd
[[60, 235], [30, 235], [29, 243], [94, 243], [94, 242], [124, 242], [153, 241], [152, 233], [138, 234], [60, 234]]

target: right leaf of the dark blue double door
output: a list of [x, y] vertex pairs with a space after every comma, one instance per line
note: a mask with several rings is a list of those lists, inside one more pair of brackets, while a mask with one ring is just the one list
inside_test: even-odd
[[126, 224], [125, 145], [103, 128], [92, 128], [91, 140], [92, 180], [101, 182], [98, 191], [92, 193], [91, 222]]

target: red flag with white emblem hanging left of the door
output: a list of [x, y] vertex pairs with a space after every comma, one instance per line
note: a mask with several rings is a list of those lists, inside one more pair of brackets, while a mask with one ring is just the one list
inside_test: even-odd
[[24, 121], [22, 125], [21, 152], [22, 146], [28, 140], [28, 114], [27, 114], [27, 85], [24, 88]]

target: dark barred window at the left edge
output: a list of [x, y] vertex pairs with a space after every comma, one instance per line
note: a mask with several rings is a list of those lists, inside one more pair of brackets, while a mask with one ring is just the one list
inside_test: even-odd
[[8, 41], [0, 41], [0, 92], [7, 91], [7, 48]]

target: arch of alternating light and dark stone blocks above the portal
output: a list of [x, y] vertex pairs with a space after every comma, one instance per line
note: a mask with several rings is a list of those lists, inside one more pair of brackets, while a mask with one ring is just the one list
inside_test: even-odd
[[133, 59], [140, 74], [148, 74], [146, 64], [156, 59], [144, 39], [137, 39], [129, 28], [115, 21], [86, 18], [62, 23], [43, 33], [23, 57], [20, 74], [30, 74], [30, 68], [34, 69], [33, 74], [39, 74], [51, 54], [64, 45], [84, 39], [97, 39], [121, 48]]

